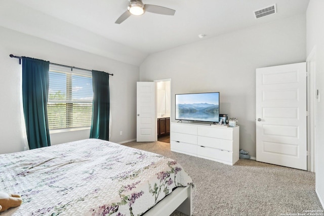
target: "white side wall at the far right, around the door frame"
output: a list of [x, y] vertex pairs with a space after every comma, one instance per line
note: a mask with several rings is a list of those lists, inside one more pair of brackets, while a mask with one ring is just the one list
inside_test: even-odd
[[316, 117], [316, 192], [324, 207], [324, 1], [310, 0], [306, 13], [307, 56], [315, 46], [316, 89], [322, 96]]

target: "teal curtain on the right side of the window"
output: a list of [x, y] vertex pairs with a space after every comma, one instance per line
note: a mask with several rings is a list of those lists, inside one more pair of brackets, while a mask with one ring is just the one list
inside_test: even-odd
[[92, 71], [92, 122], [90, 138], [109, 139], [109, 74]]

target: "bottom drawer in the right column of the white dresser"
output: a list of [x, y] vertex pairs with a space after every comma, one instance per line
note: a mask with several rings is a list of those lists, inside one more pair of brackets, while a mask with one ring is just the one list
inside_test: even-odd
[[198, 157], [203, 157], [211, 160], [222, 160], [227, 162], [232, 162], [233, 153], [228, 151], [222, 151], [219, 149], [213, 149], [209, 147], [197, 146]]

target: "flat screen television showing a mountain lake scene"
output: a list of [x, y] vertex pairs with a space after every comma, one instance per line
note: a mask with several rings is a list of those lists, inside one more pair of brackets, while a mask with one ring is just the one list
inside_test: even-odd
[[219, 121], [219, 92], [177, 94], [176, 120]]

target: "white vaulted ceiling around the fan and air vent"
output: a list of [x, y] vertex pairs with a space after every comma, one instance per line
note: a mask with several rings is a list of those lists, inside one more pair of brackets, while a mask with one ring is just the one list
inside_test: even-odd
[[[305, 14], [309, 0], [143, 0], [176, 10], [121, 24], [128, 0], [0, 0], [0, 26], [134, 65], [147, 55], [265, 22]], [[277, 13], [254, 11], [276, 4]]]

